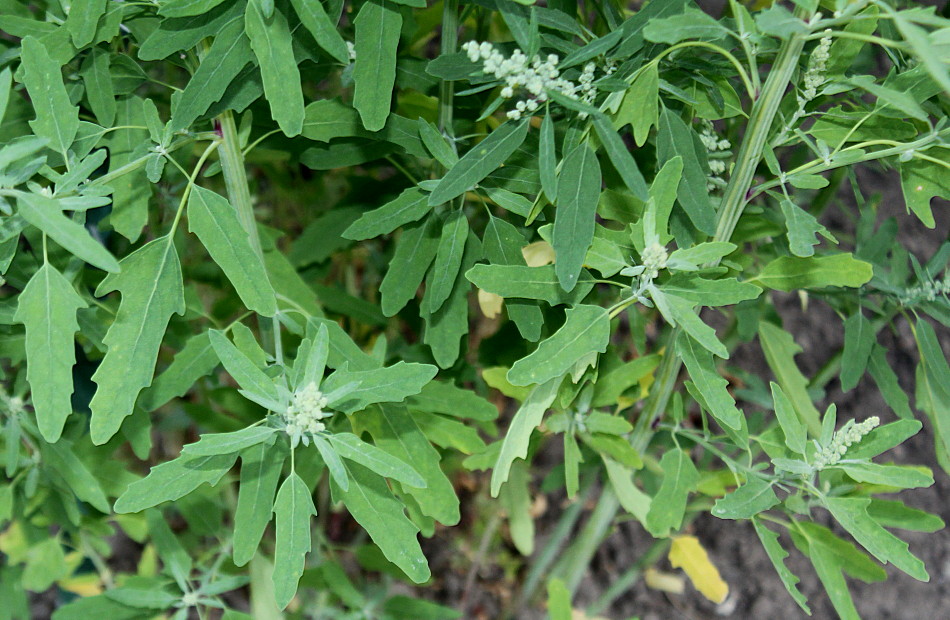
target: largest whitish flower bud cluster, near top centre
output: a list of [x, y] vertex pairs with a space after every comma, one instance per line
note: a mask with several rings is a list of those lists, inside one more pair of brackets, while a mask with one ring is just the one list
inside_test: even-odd
[[482, 71], [503, 81], [501, 96], [511, 99], [516, 93], [525, 91], [526, 98], [515, 104], [508, 112], [508, 118], [519, 119], [525, 113], [532, 113], [541, 103], [548, 100], [549, 92], [557, 92], [565, 97], [591, 104], [596, 95], [594, 71], [596, 65], [589, 62], [584, 66], [577, 83], [561, 77], [558, 69], [557, 54], [548, 54], [542, 58], [535, 54], [531, 58], [520, 49], [515, 49], [507, 58], [488, 42], [468, 41], [462, 44], [462, 50], [472, 62], [481, 62]]

